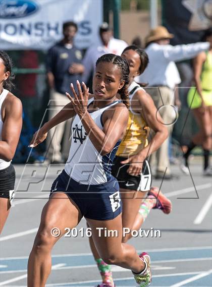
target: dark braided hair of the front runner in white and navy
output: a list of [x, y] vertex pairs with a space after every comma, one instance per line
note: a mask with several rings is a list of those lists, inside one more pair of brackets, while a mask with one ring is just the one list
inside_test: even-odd
[[128, 93], [128, 84], [129, 84], [129, 65], [125, 59], [123, 59], [121, 56], [115, 55], [115, 54], [104, 54], [98, 60], [96, 61], [96, 66], [100, 62], [107, 62], [114, 64], [118, 66], [118, 68], [121, 70], [121, 81], [125, 81], [124, 86], [119, 90], [119, 94], [121, 96], [121, 99], [123, 103], [126, 105], [127, 108], [129, 108], [130, 101], [129, 101], [129, 93]]

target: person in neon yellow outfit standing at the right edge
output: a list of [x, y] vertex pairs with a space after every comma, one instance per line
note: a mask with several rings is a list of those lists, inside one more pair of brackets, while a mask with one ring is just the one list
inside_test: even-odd
[[188, 158], [196, 145], [201, 145], [204, 155], [203, 175], [211, 176], [212, 169], [209, 165], [209, 154], [212, 149], [212, 28], [205, 31], [203, 41], [210, 42], [210, 50], [199, 53], [194, 59], [194, 82], [188, 92], [188, 106], [192, 109], [199, 131], [193, 136], [184, 154], [182, 171], [189, 175]]

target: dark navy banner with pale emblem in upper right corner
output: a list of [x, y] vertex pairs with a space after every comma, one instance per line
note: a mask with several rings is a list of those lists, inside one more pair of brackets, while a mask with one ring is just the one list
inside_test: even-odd
[[212, 0], [162, 0], [162, 18], [173, 45], [198, 42], [212, 26]]

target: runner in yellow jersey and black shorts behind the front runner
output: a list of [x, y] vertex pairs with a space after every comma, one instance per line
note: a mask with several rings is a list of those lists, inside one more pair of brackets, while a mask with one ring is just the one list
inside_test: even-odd
[[[142, 74], [148, 64], [147, 54], [144, 50], [132, 45], [124, 49], [122, 58], [127, 60], [130, 67], [129, 121], [127, 132], [114, 160], [112, 173], [118, 179], [122, 193], [123, 227], [136, 229], [140, 227], [137, 220], [139, 219], [141, 224], [151, 208], [160, 208], [165, 213], [171, 211], [171, 202], [155, 188], [150, 190], [151, 171], [147, 160], [148, 156], [159, 148], [168, 137], [168, 131], [161, 124], [162, 119], [160, 114], [157, 114], [157, 109], [150, 95], [134, 82], [134, 77]], [[149, 128], [155, 132], [155, 135], [148, 143]], [[148, 196], [143, 201], [147, 193]], [[134, 225], [135, 221], [137, 227]], [[123, 238], [123, 242], [129, 238], [130, 234]], [[102, 276], [102, 283], [98, 286], [114, 287], [110, 266], [99, 258], [91, 238], [90, 244]]]

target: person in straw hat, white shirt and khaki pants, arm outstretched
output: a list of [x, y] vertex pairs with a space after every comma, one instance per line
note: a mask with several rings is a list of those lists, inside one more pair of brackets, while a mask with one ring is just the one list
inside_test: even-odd
[[[176, 85], [176, 66], [174, 62], [194, 58], [199, 52], [209, 49], [208, 42], [198, 42], [187, 45], [170, 45], [170, 34], [163, 26], [152, 29], [146, 37], [145, 51], [149, 57], [149, 65], [144, 73], [136, 80], [148, 83], [147, 92], [151, 95], [157, 108], [172, 132], [175, 112], [171, 105], [174, 104], [174, 88]], [[174, 71], [175, 70], [175, 71]], [[161, 107], [163, 106], [163, 107]], [[168, 139], [156, 151], [156, 178], [171, 179], [170, 162], [168, 156]]]

